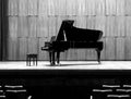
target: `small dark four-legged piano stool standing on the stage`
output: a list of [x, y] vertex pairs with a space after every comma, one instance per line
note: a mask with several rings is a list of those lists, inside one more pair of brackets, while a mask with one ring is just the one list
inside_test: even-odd
[[33, 65], [37, 65], [37, 54], [26, 54], [26, 65], [31, 66], [33, 60]]

